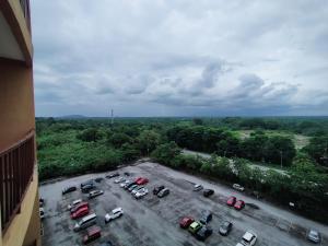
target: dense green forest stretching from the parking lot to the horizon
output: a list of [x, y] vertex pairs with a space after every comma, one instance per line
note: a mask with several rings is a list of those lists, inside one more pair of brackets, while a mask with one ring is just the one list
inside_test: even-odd
[[110, 171], [147, 156], [328, 219], [327, 117], [37, 118], [36, 131], [42, 180]]

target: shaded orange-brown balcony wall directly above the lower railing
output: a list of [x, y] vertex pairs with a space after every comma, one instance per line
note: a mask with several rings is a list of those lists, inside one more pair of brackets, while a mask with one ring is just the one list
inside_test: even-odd
[[0, 152], [35, 128], [32, 68], [0, 61]]

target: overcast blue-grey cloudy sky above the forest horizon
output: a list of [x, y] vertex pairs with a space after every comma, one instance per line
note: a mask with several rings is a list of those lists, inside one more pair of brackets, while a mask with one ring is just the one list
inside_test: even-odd
[[328, 1], [32, 0], [36, 116], [328, 115]]

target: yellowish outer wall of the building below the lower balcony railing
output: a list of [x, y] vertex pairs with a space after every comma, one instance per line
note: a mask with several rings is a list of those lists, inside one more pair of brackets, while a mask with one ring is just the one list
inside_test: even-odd
[[21, 212], [15, 215], [10, 226], [2, 234], [2, 246], [32, 246], [33, 242], [40, 245], [40, 222], [38, 216], [38, 181], [37, 171], [34, 171]]

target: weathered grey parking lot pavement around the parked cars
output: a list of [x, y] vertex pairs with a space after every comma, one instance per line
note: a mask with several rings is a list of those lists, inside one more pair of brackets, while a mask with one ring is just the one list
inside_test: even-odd
[[[234, 246], [241, 241], [243, 234], [250, 230], [258, 235], [256, 245], [277, 246], [303, 246], [312, 245], [306, 241], [306, 232], [309, 227], [317, 229], [323, 235], [320, 245], [328, 245], [328, 226], [308, 221], [304, 218], [291, 214], [270, 204], [257, 202], [253, 198], [233, 189], [210, 183], [208, 180], [179, 173], [165, 166], [144, 162], [136, 165], [125, 166], [118, 172], [130, 174], [129, 179], [137, 177], [149, 178], [150, 194], [140, 200], [136, 200], [130, 192], [114, 184], [114, 179], [104, 178], [96, 183], [104, 195], [92, 200], [87, 194], [80, 189], [65, 196], [61, 189], [75, 185], [91, 178], [105, 177], [107, 173], [91, 174], [57, 180], [40, 186], [40, 196], [45, 199], [45, 219], [43, 221], [45, 246], [82, 245], [81, 238], [85, 230], [73, 232], [75, 221], [70, 219], [68, 204], [75, 199], [89, 200], [91, 210], [97, 214], [97, 225], [102, 227], [102, 237], [90, 245], [99, 245], [102, 242], [110, 241], [114, 245], [121, 246], [168, 246], [168, 245], [229, 245]], [[201, 191], [192, 191], [195, 184], [201, 184], [204, 188], [214, 189], [215, 194], [204, 198]], [[171, 194], [164, 198], [152, 195], [156, 185], [169, 188]], [[225, 204], [227, 196], [236, 196], [245, 200], [246, 207], [236, 211]], [[105, 224], [106, 212], [121, 207], [124, 215], [108, 224]], [[213, 234], [204, 243], [197, 241], [187, 230], [179, 227], [179, 220], [185, 215], [199, 219], [202, 210], [210, 210], [213, 219], [209, 225]], [[223, 221], [233, 223], [229, 236], [221, 236], [218, 231]]]

